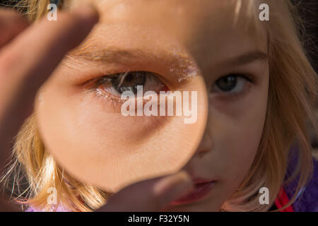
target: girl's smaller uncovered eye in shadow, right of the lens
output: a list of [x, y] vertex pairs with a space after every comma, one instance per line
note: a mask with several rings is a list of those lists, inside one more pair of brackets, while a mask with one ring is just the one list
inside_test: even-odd
[[214, 93], [240, 93], [247, 85], [248, 79], [244, 76], [232, 74], [219, 78], [214, 83], [212, 92]]

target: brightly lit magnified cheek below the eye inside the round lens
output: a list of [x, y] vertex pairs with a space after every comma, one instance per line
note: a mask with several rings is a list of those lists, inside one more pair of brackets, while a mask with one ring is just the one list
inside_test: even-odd
[[73, 177], [106, 191], [182, 168], [204, 131], [205, 91], [198, 93], [198, 120], [184, 124], [184, 117], [110, 113], [98, 97], [57, 84], [47, 83], [36, 105], [45, 147]]

